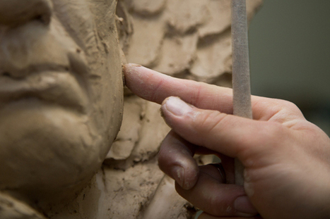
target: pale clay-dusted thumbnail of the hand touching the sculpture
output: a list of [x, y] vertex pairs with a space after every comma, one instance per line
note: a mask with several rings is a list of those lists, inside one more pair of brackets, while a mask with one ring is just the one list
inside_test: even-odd
[[167, 111], [170, 111], [170, 113], [182, 116], [186, 113], [189, 113], [192, 111], [192, 107], [186, 104], [184, 101], [179, 99], [179, 97], [170, 96], [164, 104]]

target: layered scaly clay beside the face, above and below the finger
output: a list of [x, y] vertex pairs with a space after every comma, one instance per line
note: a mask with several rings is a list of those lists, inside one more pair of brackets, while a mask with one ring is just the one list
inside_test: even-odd
[[[118, 17], [123, 18], [117, 22], [117, 27], [127, 62], [146, 65], [175, 77], [231, 86], [230, 1], [143, 0], [143, 4], [136, 7], [139, 2], [119, 1], [117, 8]], [[247, 0], [249, 19], [261, 2]], [[120, 172], [143, 163], [151, 170], [157, 169], [158, 147], [169, 130], [160, 118], [159, 106], [126, 92], [123, 121], [119, 138], [112, 145], [104, 167]], [[128, 149], [131, 154], [127, 153]], [[197, 159], [204, 164], [212, 161], [211, 156]], [[148, 184], [156, 183], [158, 187], [140, 188], [140, 195], [147, 194], [148, 198], [135, 196], [134, 206], [140, 203], [141, 208], [138, 215], [136, 209], [127, 209], [131, 215], [129, 218], [193, 217], [196, 209], [177, 196], [172, 180], [166, 177], [163, 180], [160, 177], [149, 179], [155, 181], [148, 181]], [[155, 190], [150, 193], [148, 188]], [[125, 201], [111, 206], [125, 208]]]

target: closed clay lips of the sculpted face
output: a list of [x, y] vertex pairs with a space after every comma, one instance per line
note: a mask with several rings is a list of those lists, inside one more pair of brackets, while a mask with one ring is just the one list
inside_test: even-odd
[[0, 105], [35, 97], [86, 113], [88, 95], [69, 72], [44, 71], [23, 79], [0, 76]]

